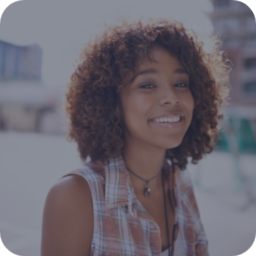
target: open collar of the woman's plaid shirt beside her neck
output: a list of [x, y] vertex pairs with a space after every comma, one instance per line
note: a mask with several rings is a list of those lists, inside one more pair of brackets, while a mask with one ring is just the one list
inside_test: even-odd
[[[169, 177], [169, 188], [172, 187], [172, 182], [169, 175], [172, 172], [172, 167], [167, 160], [164, 162], [164, 171]], [[126, 169], [123, 157], [109, 159], [109, 164], [104, 166], [106, 173], [106, 191], [105, 191], [105, 206], [106, 208], [115, 208], [118, 206], [128, 205], [129, 213], [138, 216], [138, 202], [130, 182], [130, 176]]]

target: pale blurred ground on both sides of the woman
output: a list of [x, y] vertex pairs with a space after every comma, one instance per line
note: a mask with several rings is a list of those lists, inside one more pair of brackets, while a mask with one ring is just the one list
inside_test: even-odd
[[[256, 187], [256, 156], [241, 157]], [[0, 133], [1, 240], [16, 255], [39, 256], [45, 197], [62, 175], [80, 165], [77, 145], [63, 136]], [[209, 241], [210, 256], [241, 255], [254, 243], [256, 206], [236, 186], [228, 153], [213, 152], [188, 165]], [[211, 190], [211, 188], [213, 188]]]

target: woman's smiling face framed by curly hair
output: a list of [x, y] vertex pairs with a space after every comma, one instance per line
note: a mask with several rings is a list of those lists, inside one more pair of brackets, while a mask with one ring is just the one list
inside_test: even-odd
[[121, 91], [122, 109], [117, 109], [125, 145], [176, 148], [189, 128], [194, 108], [189, 76], [164, 48], [152, 48], [151, 57], [156, 62], [138, 63], [132, 82]]

